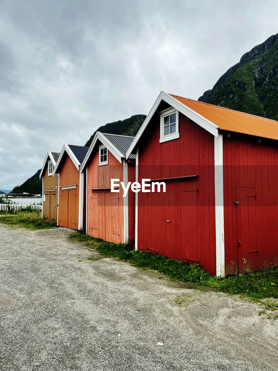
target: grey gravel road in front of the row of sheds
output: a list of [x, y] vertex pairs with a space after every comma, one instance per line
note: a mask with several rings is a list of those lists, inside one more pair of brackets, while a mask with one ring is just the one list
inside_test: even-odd
[[259, 305], [188, 289], [68, 234], [0, 226], [1, 371], [278, 370], [278, 321]]

